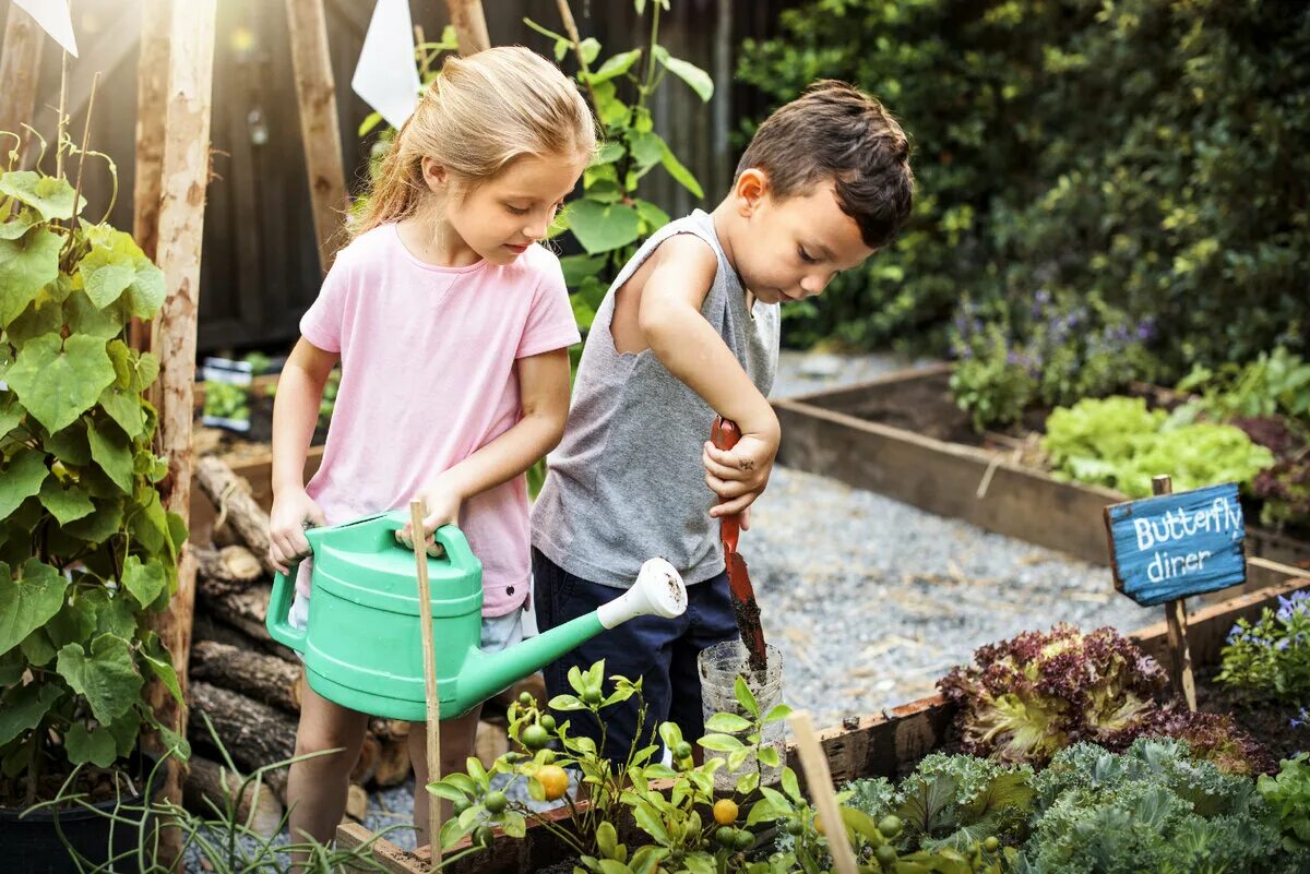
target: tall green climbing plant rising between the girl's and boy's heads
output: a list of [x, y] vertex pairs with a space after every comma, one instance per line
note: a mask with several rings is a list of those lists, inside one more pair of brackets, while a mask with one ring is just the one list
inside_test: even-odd
[[705, 102], [714, 94], [714, 81], [659, 43], [660, 13], [669, 10], [669, 0], [648, 4], [635, 0], [634, 5], [638, 16], [650, 7], [650, 39], [645, 46], [610, 55], [599, 65], [603, 47], [596, 39], [574, 39], [524, 18], [529, 27], [554, 41], [555, 60], [574, 55], [575, 79], [604, 133], [596, 158], [583, 173], [582, 196], [566, 204], [555, 230], [570, 232], [584, 251], [561, 259], [565, 280], [574, 289], [574, 317], [584, 334], [638, 242], [668, 224], [663, 209], [638, 196], [646, 174], [660, 166], [693, 196], [705, 196], [701, 183], [655, 132], [650, 101], [668, 73]]

